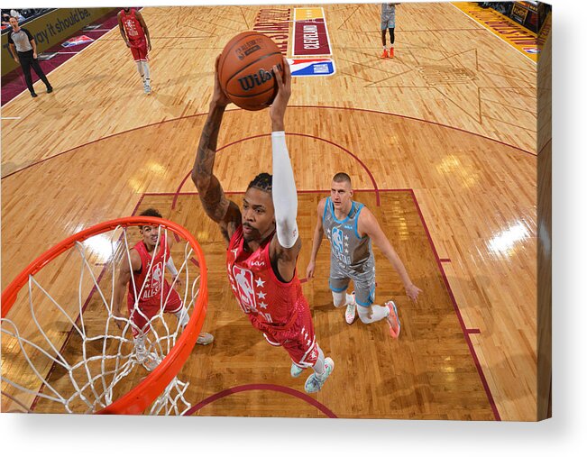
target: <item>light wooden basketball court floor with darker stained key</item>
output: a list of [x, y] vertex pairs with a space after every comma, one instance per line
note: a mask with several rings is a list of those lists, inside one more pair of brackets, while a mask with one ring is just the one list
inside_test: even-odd
[[[317, 279], [304, 285], [336, 363], [319, 409], [291, 394], [303, 381], [289, 378], [285, 352], [229, 297], [219, 233], [189, 194], [212, 63], [261, 8], [146, 8], [151, 96], [113, 31], [50, 74], [54, 97], [5, 105], [3, 117], [18, 119], [2, 120], [3, 288], [69, 234], [157, 206], [196, 234], [215, 278], [204, 328], [216, 341], [182, 371], [190, 402], [281, 387], [244, 389], [194, 414], [535, 420], [536, 65], [450, 4], [400, 5], [397, 57], [381, 60], [379, 5], [324, 5], [337, 73], [295, 79], [286, 118], [306, 246], [300, 276], [326, 195], [316, 191], [344, 170], [424, 294], [409, 303], [378, 252], [377, 295], [399, 304], [402, 336], [391, 340], [384, 324], [348, 326], [330, 304], [323, 243]], [[216, 173], [237, 200], [271, 168], [269, 133], [267, 112], [225, 114]]]

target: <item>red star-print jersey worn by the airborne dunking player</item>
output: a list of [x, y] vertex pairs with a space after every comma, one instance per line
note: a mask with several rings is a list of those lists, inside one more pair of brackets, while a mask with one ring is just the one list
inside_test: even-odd
[[288, 283], [281, 282], [271, 268], [269, 236], [257, 251], [244, 251], [243, 226], [239, 226], [226, 251], [228, 279], [234, 297], [252, 325], [261, 330], [286, 330], [298, 313], [309, 310], [298, 273]]

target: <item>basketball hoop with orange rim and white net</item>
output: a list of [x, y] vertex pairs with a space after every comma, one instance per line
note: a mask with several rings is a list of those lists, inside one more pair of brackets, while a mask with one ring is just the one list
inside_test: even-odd
[[[189, 315], [182, 327], [179, 318], [164, 313], [170, 294], [160, 294], [160, 312], [144, 332], [159, 364], [143, 378], [147, 372], [137, 360], [131, 332], [133, 312], [141, 312], [138, 299], [131, 316], [121, 318], [113, 310], [119, 265], [124, 258], [130, 261], [128, 229], [140, 225], [158, 227], [157, 243], [161, 235], [175, 238], [171, 253], [181, 281], [174, 278], [170, 287], [179, 288]], [[162, 285], [164, 271], [160, 276]], [[134, 297], [141, 297], [134, 279], [131, 284]], [[196, 344], [206, 307], [204, 253], [181, 225], [158, 217], [124, 217], [70, 236], [34, 260], [2, 293], [3, 410], [37, 412], [42, 403], [45, 412], [55, 413], [142, 414], [150, 406], [149, 414], [185, 413], [191, 407], [185, 398], [188, 383], [178, 373]]]

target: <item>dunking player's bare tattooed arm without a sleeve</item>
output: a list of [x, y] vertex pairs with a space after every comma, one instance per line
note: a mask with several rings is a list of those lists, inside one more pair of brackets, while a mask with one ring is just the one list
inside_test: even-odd
[[206, 215], [220, 225], [220, 230], [226, 242], [229, 242], [236, 227], [241, 224], [241, 211], [234, 202], [225, 197], [220, 181], [213, 173], [218, 132], [220, 131], [226, 105], [230, 103], [228, 97], [220, 88], [220, 81], [218, 80], [219, 57], [216, 58], [214, 95], [212, 96], [210, 111], [197, 146], [196, 161], [191, 172], [191, 178], [197, 187]]

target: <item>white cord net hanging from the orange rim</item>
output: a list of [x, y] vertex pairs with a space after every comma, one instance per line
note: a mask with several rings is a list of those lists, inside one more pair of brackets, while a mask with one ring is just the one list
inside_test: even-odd
[[[153, 256], [160, 251], [161, 234], [168, 240], [169, 235], [176, 236], [160, 226]], [[115, 280], [122, 260], [130, 262], [130, 249], [140, 239], [138, 227], [118, 226], [76, 242], [29, 276], [28, 288], [23, 287], [1, 321], [3, 412], [94, 413], [135, 387], [170, 352], [182, 332], [179, 318], [186, 324], [192, 315], [199, 268], [189, 243], [176, 242], [172, 257], [182, 285], [183, 314], [188, 317], [164, 313], [170, 294], [163, 297], [161, 293], [161, 308], [151, 319], [143, 314], [138, 300], [129, 318], [127, 290], [121, 306], [126, 317], [115, 317]], [[151, 261], [149, 275], [152, 268]], [[162, 291], [166, 275], [159, 276]], [[142, 297], [144, 285], [137, 290], [131, 277], [134, 297]], [[169, 282], [171, 288], [179, 284], [176, 279]], [[138, 328], [134, 315], [142, 315], [150, 328]], [[133, 328], [138, 338], [133, 338]], [[187, 388], [188, 382], [174, 378], [147, 409], [148, 414], [184, 414], [191, 407], [185, 398]]]

